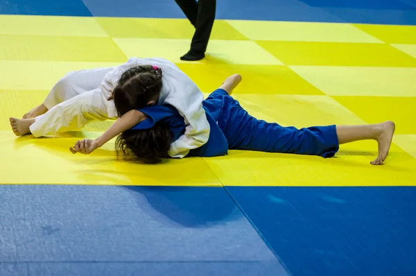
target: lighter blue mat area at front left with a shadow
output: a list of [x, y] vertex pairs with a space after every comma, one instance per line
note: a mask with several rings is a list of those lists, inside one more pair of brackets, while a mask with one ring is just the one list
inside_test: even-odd
[[0, 185], [0, 230], [1, 276], [288, 275], [223, 188]]

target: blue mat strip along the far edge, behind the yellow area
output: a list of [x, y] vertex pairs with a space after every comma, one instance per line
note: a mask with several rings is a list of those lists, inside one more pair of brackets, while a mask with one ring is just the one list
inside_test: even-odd
[[[416, 24], [415, 0], [227, 0], [217, 19]], [[185, 18], [174, 0], [0, 0], [0, 14]]]

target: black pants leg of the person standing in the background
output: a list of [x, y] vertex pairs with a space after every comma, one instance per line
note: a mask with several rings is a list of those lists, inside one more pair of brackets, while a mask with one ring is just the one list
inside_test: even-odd
[[191, 50], [205, 53], [214, 25], [216, 0], [175, 0], [195, 27]]

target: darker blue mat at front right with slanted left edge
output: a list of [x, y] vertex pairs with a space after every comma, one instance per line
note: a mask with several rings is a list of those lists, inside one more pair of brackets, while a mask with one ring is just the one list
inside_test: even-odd
[[416, 187], [227, 187], [294, 276], [416, 275]]

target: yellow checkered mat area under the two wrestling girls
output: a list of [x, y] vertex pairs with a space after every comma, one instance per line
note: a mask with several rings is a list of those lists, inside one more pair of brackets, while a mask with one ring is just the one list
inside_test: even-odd
[[[182, 19], [0, 16], [0, 184], [383, 186], [416, 184], [416, 28], [362, 24], [216, 21], [207, 58], [182, 62], [192, 27]], [[284, 126], [376, 123], [397, 135], [385, 166], [376, 143], [336, 157], [231, 150], [225, 157], [120, 162], [114, 142], [92, 155], [69, 146], [110, 121], [60, 138], [17, 138], [8, 117], [42, 103], [67, 71], [114, 66], [131, 55], [177, 62], [209, 93], [234, 73], [250, 114]]]

